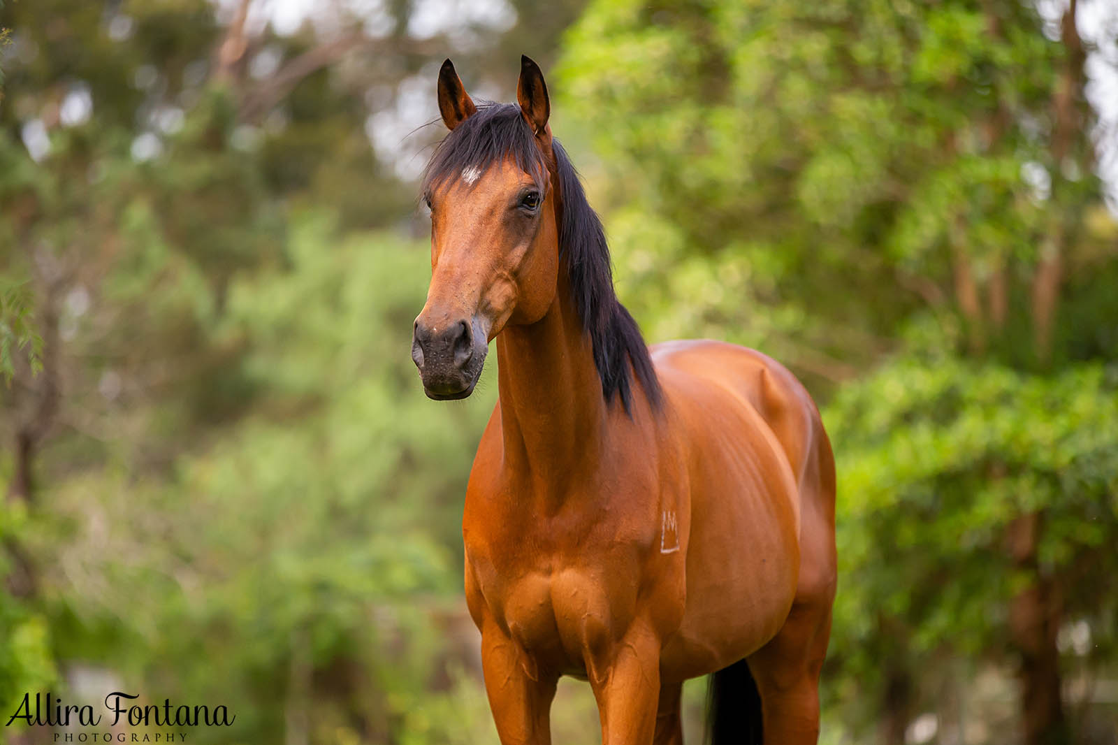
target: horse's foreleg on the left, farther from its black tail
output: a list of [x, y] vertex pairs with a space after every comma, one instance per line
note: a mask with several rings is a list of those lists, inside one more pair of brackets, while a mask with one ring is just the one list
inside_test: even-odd
[[524, 651], [493, 622], [482, 629], [485, 692], [503, 745], [549, 745], [558, 678], [523, 659]]

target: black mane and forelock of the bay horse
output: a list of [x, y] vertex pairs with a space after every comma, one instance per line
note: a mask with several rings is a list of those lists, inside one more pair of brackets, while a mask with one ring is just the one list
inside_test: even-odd
[[[661, 404], [660, 381], [652, 367], [648, 347], [641, 330], [614, 293], [614, 277], [609, 263], [609, 247], [601, 228], [601, 220], [586, 200], [586, 192], [571, 166], [567, 152], [558, 140], [551, 141], [562, 204], [559, 215], [559, 252], [567, 262], [571, 295], [582, 320], [582, 328], [590, 334], [594, 364], [601, 378], [601, 394], [606, 403], [614, 394], [629, 412], [633, 400], [633, 379], [644, 388], [653, 408]], [[528, 122], [515, 104], [479, 104], [477, 113], [463, 120], [446, 135], [435, 150], [424, 171], [423, 189], [453, 183], [463, 169], [485, 171], [505, 159], [512, 159], [537, 183], [543, 185], [547, 163]], [[632, 366], [632, 367], [631, 367]]]

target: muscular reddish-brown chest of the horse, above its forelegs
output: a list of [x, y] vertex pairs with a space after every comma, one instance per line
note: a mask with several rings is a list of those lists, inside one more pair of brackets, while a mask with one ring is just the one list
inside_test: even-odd
[[[639, 492], [646, 499], [613, 494], [606, 508], [596, 497], [613, 493], [608, 485], [582, 485], [550, 512], [530, 508], [546, 500], [523, 488], [473, 487], [463, 528], [475, 619], [484, 607], [540, 664], [582, 672], [636, 617], [647, 557], [660, 540], [655, 484]], [[665, 556], [678, 555], [675, 548]]]

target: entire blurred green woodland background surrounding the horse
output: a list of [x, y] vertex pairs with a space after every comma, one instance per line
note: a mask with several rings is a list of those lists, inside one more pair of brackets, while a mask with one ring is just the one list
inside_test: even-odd
[[[527, 51], [650, 340], [755, 346], [824, 406], [824, 739], [1118, 742], [1107, 0], [0, 27], [0, 710], [114, 686], [237, 714], [198, 742], [494, 739], [458, 534], [493, 370], [459, 404], [417, 385], [414, 181], [442, 59], [508, 100]], [[598, 737], [587, 691], [555, 729]]]

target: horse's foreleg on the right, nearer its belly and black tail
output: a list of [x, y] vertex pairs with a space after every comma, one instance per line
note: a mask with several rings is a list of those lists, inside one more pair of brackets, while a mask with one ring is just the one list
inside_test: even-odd
[[587, 664], [601, 717], [601, 745], [650, 743], [660, 701], [660, 639], [635, 623], [613, 645], [610, 658]]

